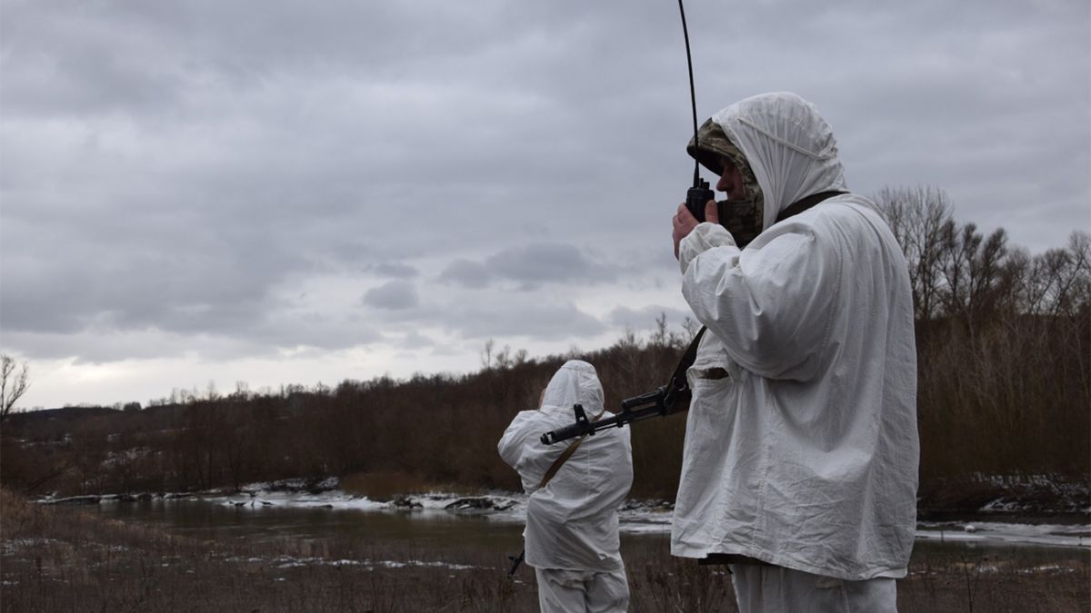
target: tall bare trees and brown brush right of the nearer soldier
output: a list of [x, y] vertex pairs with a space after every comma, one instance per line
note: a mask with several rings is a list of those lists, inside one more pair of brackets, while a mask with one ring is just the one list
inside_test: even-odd
[[875, 199], [909, 261], [924, 480], [1091, 472], [1091, 236], [1038, 255], [935, 188]]

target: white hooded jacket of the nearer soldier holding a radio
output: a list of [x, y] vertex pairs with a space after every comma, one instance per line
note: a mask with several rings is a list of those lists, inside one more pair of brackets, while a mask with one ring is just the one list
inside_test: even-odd
[[680, 244], [683, 296], [711, 334], [687, 373], [671, 551], [848, 580], [904, 576], [920, 453], [904, 256], [855, 195], [770, 225], [792, 202], [844, 188], [813, 106], [771, 94], [716, 121], [763, 182], [767, 228], [744, 250], [714, 224]]

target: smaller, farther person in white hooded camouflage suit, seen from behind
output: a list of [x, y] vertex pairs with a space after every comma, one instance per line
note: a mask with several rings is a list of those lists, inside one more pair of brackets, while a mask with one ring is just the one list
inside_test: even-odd
[[611, 428], [568, 447], [542, 443], [543, 433], [572, 423], [577, 402], [591, 420], [612, 417], [595, 366], [570, 360], [542, 390], [541, 407], [519, 411], [497, 447], [530, 494], [523, 536], [542, 612], [620, 613], [628, 608], [618, 506], [633, 483], [630, 433]]

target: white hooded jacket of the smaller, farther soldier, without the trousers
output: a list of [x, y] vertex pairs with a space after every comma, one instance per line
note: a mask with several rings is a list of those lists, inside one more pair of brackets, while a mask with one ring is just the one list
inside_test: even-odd
[[611, 417], [602, 408], [602, 385], [595, 368], [570, 360], [546, 386], [538, 410], [520, 411], [497, 445], [518, 471], [527, 502], [523, 532], [526, 562], [535, 568], [611, 572], [624, 568], [619, 551], [618, 506], [633, 484], [633, 454], [627, 428], [586, 436], [553, 479], [538, 489], [567, 444], [546, 445], [540, 437], [575, 422], [573, 405], [588, 418]]

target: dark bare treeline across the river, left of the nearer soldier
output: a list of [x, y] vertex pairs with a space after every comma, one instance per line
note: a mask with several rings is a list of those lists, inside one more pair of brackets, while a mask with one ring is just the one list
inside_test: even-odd
[[[0, 478], [8, 486], [65, 494], [179, 492], [254, 481], [364, 473], [406, 484], [515, 490], [496, 454], [516, 411], [533, 408], [571, 358], [597, 364], [609, 406], [648, 392], [673, 370], [688, 340], [627, 335], [608, 349], [527, 359], [501, 351], [470, 375], [344, 381], [336, 387], [244, 388], [187, 395], [143, 410], [77, 408], [15, 413], [3, 424]], [[70, 414], [72, 413], [72, 414]], [[654, 432], [652, 432], [654, 431]], [[663, 420], [635, 434], [642, 491], [667, 495], [676, 479], [684, 422]]]

